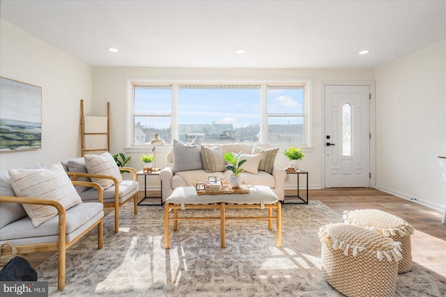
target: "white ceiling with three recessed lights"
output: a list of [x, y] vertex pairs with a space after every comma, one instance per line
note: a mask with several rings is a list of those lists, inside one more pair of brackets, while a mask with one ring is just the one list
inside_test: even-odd
[[373, 68], [446, 38], [444, 0], [1, 0], [0, 8], [2, 19], [93, 66]]

